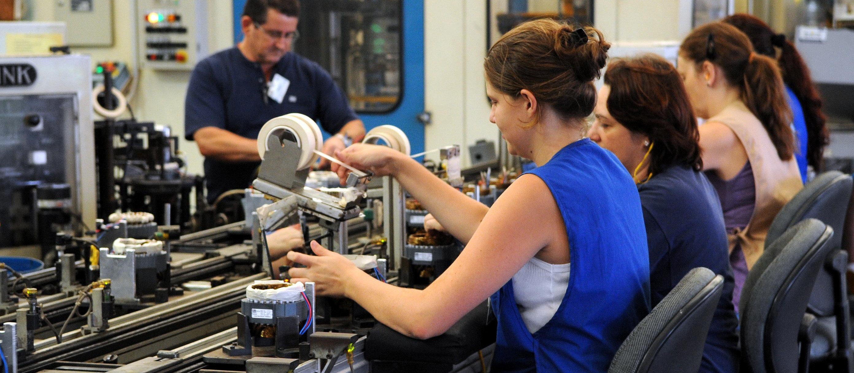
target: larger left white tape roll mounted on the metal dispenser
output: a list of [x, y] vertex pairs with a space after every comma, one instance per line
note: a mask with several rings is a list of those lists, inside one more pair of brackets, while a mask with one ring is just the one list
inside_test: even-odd
[[318, 124], [314, 123], [312, 118], [298, 112], [272, 118], [264, 123], [258, 134], [258, 155], [261, 159], [264, 159], [264, 153], [269, 150], [267, 138], [276, 136], [281, 139], [285, 132], [294, 135], [296, 146], [299, 146], [301, 150], [300, 163], [296, 166], [297, 169], [307, 169], [317, 161], [318, 156], [314, 154], [314, 151], [319, 152], [323, 146], [323, 135], [320, 134]]

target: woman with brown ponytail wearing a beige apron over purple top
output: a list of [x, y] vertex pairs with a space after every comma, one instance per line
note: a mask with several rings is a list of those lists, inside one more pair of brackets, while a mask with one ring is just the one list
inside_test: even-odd
[[764, 250], [775, 215], [803, 188], [792, 111], [777, 62], [732, 25], [711, 22], [682, 42], [677, 70], [699, 118], [703, 169], [717, 190], [729, 238], [733, 302]]

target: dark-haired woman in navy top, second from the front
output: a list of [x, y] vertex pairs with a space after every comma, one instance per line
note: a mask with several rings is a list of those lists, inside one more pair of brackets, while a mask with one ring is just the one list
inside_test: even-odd
[[700, 371], [738, 371], [727, 232], [715, 188], [700, 171], [699, 132], [679, 73], [658, 55], [611, 60], [594, 115], [590, 139], [617, 155], [640, 192], [652, 306], [695, 267], [721, 274]]

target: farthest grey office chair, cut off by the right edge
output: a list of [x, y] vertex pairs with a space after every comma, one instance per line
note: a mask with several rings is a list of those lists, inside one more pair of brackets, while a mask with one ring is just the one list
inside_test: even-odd
[[837, 234], [828, 245], [833, 255], [819, 271], [807, 310], [816, 316], [816, 341], [810, 359], [813, 368], [848, 372], [851, 359], [851, 316], [845, 266], [848, 252], [842, 250], [845, 215], [851, 200], [851, 175], [828, 171], [810, 181], [777, 214], [765, 238], [765, 246], [798, 221], [815, 218], [834, 228]]

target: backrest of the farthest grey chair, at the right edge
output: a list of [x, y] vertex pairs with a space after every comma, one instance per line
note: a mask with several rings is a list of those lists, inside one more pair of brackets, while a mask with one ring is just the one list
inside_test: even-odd
[[[845, 215], [851, 200], [851, 175], [839, 171], [828, 171], [816, 176], [804, 189], [783, 206], [765, 238], [765, 247], [779, 238], [798, 221], [814, 218], [834, 228], [834, 238], [828, 243], [834, 250], [842, 248], [842, 232]], [[829, 270], [822, 270], [816, 278], [816, 286], [810, 296], [810, 312], [818, 316], [834, 315], [834, 282]]]

